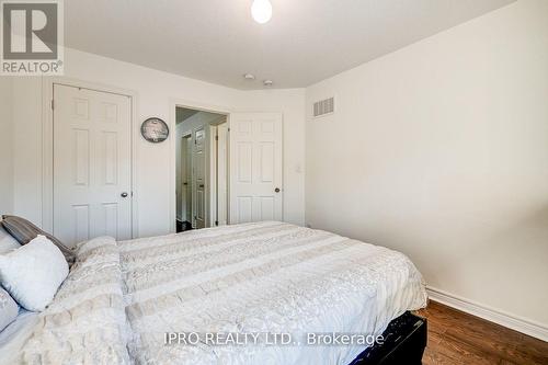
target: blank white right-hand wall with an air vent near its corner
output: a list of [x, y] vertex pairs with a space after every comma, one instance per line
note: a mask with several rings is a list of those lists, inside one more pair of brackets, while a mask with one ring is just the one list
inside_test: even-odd
[[407, 253], [432, 287], [548, 327], [548, 1], [307, 89], [306, 221]]

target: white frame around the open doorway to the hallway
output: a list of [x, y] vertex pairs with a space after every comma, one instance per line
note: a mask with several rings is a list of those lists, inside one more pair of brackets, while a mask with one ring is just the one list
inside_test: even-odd
[[[230, 114], [235, 113], [228, 106], [207, 104], [202, 102], [196, 102], [192, 100], [184, 99], [171, 99], [170, 100], [170, 119], [169, 128], [171, 130], [170, 135], [174, 135], [176, 127], [176, 107], [186, 107], [201, 112], [216, 113], [227, 116], [227, 123], [230, 127]], [[176, 138], [169, 138], [169, 149], [170, 149], [170, 232], [176, 232]], [[230, 166], [228, 167], [230, 171]], [[230, 183], [228, 183], [228, 191], [230, 192]], [[228, 207], [230, 208], [230, 207]]]

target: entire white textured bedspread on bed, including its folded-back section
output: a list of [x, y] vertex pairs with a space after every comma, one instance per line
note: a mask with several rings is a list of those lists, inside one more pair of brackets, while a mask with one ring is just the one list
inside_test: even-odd
[[[363, 344], [310, 345], [307, 335], [379, 334], [425, 305], [422, 276], [406, 255], [327, 231], [266, 221], [119, 242], [101, 237], [79, 244], [69, 276], [11, 356], [350, 364]], [[212, 333], [258, 340], [214, 343]], [[290, 342], [269, 340], [276, 333]], [[190, 334], [199, 341], [180, 341]]]

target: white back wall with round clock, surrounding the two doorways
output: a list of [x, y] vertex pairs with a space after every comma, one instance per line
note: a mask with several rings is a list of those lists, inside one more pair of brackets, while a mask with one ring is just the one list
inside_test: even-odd
[[[304, 163], [305, 91], [246, 92], [219, 87], [73, 49], [65, 52], [66, 77], [102, 83], [137, 93], [137, 121], [158, 116], [170, 121], [174, 101], [218, 105], [231, 111], [284, 113], [292, 133], [285, 145], [286, 195], [284, 219], [304, 223], [304, 174], [294, 167]], [[14, 78], [14, 210], [42, 223], [42, 79]], [[174, 121], [170, 121], [173, 125]], [[287, 130], [287, 129], [286, 129]], [[289, 134], [289, 132], [288, 132]], [[173, 134], [172, 134], [173, 136]], [[172, 156], [173, 155], [173, 156]], [[175, 156], [171, 142], [137, 140], [137, 189], [139, 236], [165, 233], [170, 229], [170, 183], [174, 189]], [[172, 178], [170, 178], [170, 174]], [[173, 202], [174, 203], [174, 202]]]

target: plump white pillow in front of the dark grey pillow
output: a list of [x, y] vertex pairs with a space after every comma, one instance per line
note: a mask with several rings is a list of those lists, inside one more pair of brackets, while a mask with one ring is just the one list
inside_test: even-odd
[[42, 311], [54, 299], [69, 267], [61, 251], [38, 235], [27, 244], [0, 255], [0, 283], [23, 308]]

